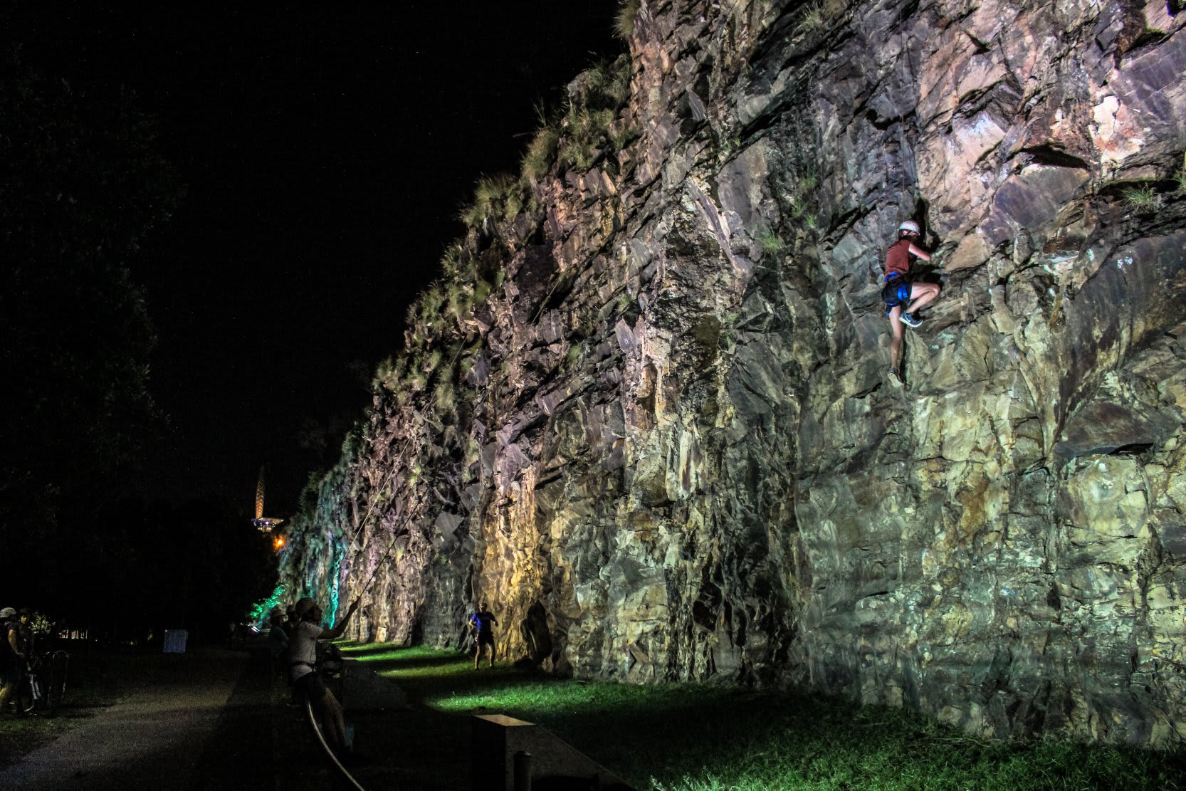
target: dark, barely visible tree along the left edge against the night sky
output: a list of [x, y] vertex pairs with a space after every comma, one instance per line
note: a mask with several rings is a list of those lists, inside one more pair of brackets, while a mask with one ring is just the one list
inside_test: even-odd
[[[95, 516], [135, 486], [164, 415], [128, 263], [183, 190], [121, 89], [0, 72], [0, 600], [69, 610], [113, 581]], [[55, 600], [56, 599], [56, 600]]]

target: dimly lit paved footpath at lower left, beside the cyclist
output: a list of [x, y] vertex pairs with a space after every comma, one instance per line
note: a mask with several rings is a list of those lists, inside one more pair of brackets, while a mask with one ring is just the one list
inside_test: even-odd
[[0, 771], [0, 790], [276, 786], [260, 652], [203, 649], [138, 662], [127, 697]]

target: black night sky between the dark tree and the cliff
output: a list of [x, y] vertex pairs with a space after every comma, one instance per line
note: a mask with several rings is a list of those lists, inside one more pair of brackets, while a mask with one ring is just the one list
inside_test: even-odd
[[159, 495], [248, 511], [267, 463], [268, 511], [291, 515], [477, 178], [517, 173], [535, 106], [621, 51], [616, 7], [6, 4], [6, 51], [75, 90], [134, 91], [185, 185], [129, 261], [171, 423]]

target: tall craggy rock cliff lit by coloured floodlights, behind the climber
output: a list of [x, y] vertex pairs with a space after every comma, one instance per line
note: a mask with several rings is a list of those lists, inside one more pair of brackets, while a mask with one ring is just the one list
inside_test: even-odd
[[[1181, 740], [1186, 13], [798, 5], [643, 2], [637, 139], [471, 236], [506, 280], [433, 330], [457, 403], [378, 384], [286, 573], [364, 639], [485, 598], [557, 672]], [[907, 217], [944, 291], [901, 389]]]

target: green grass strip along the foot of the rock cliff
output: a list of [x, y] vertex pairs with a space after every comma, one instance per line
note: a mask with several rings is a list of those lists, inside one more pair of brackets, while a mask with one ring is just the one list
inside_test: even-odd
[[1071, 741], [987, 741], [903, 709], [739, 687], [555, 678], [428, 648], [347, 656], [452, 714], [538, 722], [655, 791], [1186, 790], [1184, 754]]

